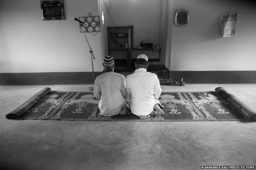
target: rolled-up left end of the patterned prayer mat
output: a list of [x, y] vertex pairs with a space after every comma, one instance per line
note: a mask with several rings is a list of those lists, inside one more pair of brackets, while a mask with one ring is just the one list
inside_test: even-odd
[[51, 91], [51, 88], [46, 87], [31, 97], [29, 100], [24, 102], [22, 105], [17, 107], [15, 110], [8, 113], [5, 117], [7, 119], [17, 119], [20, 115], [22, 115], [25, 111], [27, 111], [30, 107], [32, 107], [36, 102], [38, 102], [41, 98], [43, 98], [46, 94]]

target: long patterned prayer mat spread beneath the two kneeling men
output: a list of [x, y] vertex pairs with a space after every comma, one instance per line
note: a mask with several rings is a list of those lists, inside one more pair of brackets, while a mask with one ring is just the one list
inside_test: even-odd
[[[50, 89], [50, 88], [49, 88]], [[51, 89], [50, 89], [51, 90]], [[49, 91], [49, 90], [48, 90]], [[207, 95], [205, 95], [207, 94]], [[35, 101], [35, 100], [34, 100]], [[159, 101], [165, 115], [152, 115], [143, 120], [134, 114], [99, 115], [98, 100], [92, 92], [50, 91], [30, 108], [19, 114], [9, 113], [8, 119], [44, 120], [107, 120], [107, 121], [238, 121], [250, 120], [217, 92], [162, 92]], [[130, 98], [127, 98], [130, 102]], [[28, 102], [27, 102], [28, 103]], [[31, 105], [31, 103], [29, 102]], [[20, 107], [18, 107], [20, 108]], [[17, 109], [18, 109], [17, 108]], [[16, 109], [16, 110], [17, 110]], [[16, 111], [17, 112], [17, 111]], [[11, 115], [11, 116], [10, 116]]]

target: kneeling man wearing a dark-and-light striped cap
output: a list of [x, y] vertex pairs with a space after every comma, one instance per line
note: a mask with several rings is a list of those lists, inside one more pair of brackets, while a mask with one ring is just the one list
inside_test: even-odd
[[93, 90], [94, 96], [99, 100], [100, 115], [125, 115], [127, 105], [125, 76], [114, 72], [115, 62], [110, 55], [105, 56], [103, 66], [105, 73], [96, 77]]

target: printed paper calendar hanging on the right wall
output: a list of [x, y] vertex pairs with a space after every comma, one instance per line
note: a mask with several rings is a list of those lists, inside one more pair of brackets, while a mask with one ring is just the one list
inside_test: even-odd
[[221, 37], [236, 36], [238, 13], [226, 13], [220, 15]]

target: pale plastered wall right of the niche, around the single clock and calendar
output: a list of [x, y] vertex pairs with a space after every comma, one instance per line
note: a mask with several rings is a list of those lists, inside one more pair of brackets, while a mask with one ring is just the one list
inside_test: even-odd
[[[166, 49], [160, 58], [170, 71], [242, 71], [256, 70], [256, 4], [254, 1], [182, 0], [168, 1], [168, 17], [176, 10], [190, 12], [189, 24], [167, 24], [171, 30], [164, 40]], [[161, 6], [165, 11], [165, 6]], [[171, 13], [169, 13], [172, 11]], [[236, 37], [220, 37], [220, 14], [237, 12]], [[163, 15], [163, 14], [161, 14]], [[162, 21], [163, 24], [163, 21]], [[160, 37], [161, 41], [161, 37]], [[171, 43], [171, 46], [170, 46]], [[170, 49], [168, 53], [168, 49]]]

